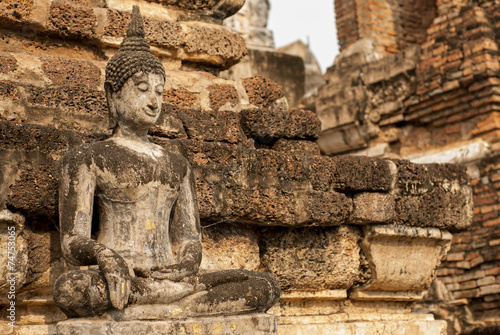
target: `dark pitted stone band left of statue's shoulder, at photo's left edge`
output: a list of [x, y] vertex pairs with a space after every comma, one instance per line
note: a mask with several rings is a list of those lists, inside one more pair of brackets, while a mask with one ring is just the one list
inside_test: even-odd
[[0, 129], [0, 180], [5, 188], [0, 204], [28, 216], [54, 217], [60, 155], [81, 140], [71, 132], [10, 122], [1, 122]]

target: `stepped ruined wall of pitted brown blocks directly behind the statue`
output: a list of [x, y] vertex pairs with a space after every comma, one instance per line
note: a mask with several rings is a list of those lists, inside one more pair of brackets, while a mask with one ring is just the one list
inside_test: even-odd
[[[470, 225], [465, 169], [319, 155], [318, 118], [288, 109], [279, 85], [217, 76], [246, 52], [220, 25], [242, 2], [221, 3], [222, 13], [212, 2], [140, 1], [167, 70], [150, 140], [193, 165], [202, 267], [273, 273], [283, 289], [270, 311], [280, 334], [443, 333], [444, 322], [410, 311], [448, 251], [449, 231]], [[65, 318], [52, 301], [69, 268], [57, 228], [59, 164], [69, 148], [110, 135], [104, 67], [131, 4], [0, 4], [0, 242], [16, 227], [17, 334], [53, 334]], [[4, 251], [0, 329], [8, 333]]]

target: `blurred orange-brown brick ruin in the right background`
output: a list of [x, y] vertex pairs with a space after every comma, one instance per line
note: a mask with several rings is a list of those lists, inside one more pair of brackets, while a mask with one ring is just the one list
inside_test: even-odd
[[318, 143], [329, 155], [467, 166], [474, 223], [454, 234], [439, 281], [422, 306], [448, 319], [452, 334], [500, 322], [499, 5], [445, 1], [428, 8], [422, 20], [432, 19], [435, 8], [436, 17], [427, 21], [432, 23], [397, 54], [383, 57], [374, 38], [373, 44], [353, 40], [339, 55], [316, 100]]

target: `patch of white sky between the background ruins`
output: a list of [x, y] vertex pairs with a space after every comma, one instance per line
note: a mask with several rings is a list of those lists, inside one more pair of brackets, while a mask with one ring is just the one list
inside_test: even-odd
[[307, 43], [323, 72], [338, 54], [334, 0], [270, 0], [268, 29], [276, 48], [300, 39]]

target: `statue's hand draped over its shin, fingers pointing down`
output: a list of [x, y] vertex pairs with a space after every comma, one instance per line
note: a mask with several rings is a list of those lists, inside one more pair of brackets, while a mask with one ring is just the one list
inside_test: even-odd
[[111, 305], [123, 309], [128, 303], [131, 287], [127, 263], [116, 252], [105, 248], [97, 253], [97, 264], [106, 278]]

